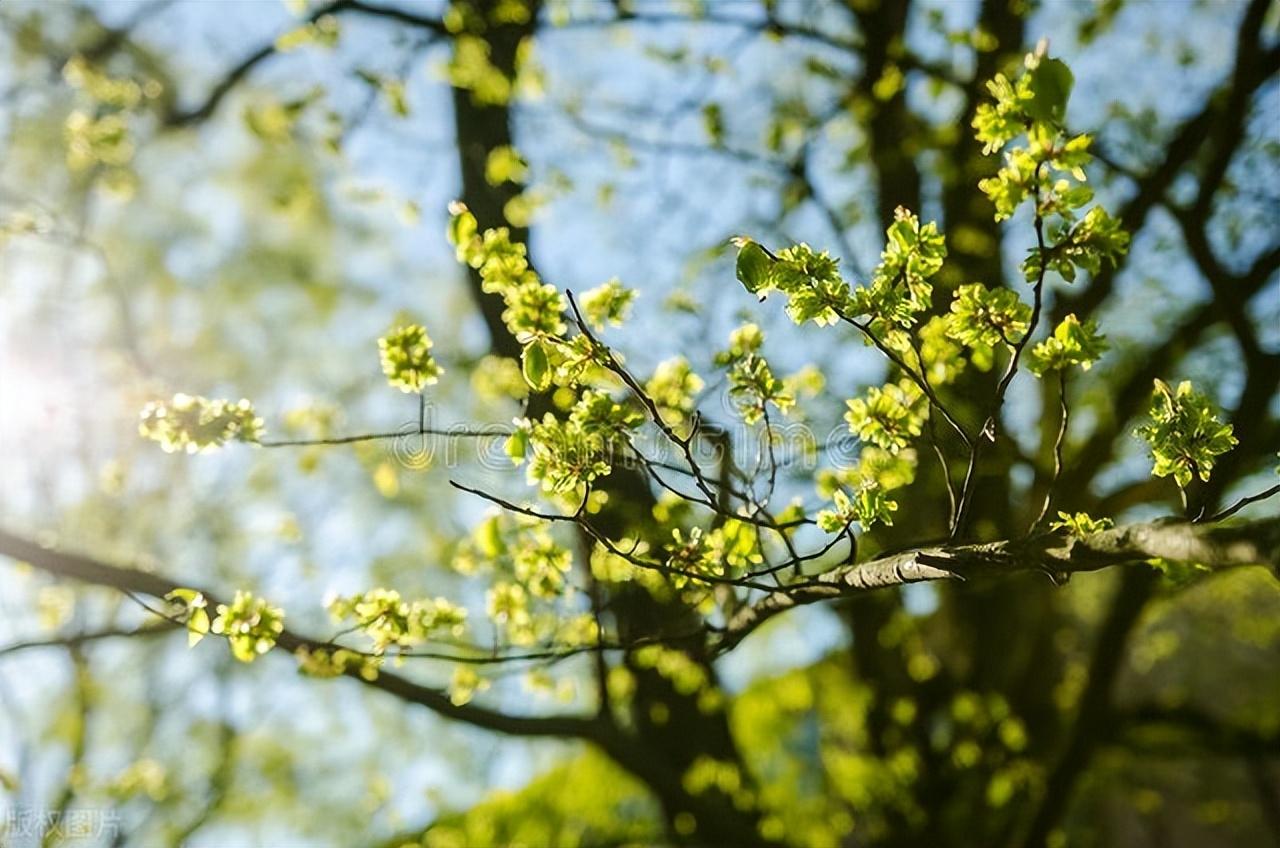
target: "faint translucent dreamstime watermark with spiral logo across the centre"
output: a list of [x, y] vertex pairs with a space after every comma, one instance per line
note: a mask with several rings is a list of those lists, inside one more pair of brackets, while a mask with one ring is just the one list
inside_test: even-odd
[[[507, 453], [507, 439], [515, 430], [515, 424], [436, 425], [433, 409], [428, 405], [419, 420], [406, 421], [397, 429], [387, 451], [401, 466], [415, 471], [463, 465], [509, 471], [512, 460]], [[726, 451], [731, 451], [728, 459], [732, 468], [751, 475], [768, 474], [774, 465], [780, 471], [847, 468], [858, 461], [861, 442], [842, 424], [822, 432], [804, 421], [771, 421], [765, 429], [763, 423], [748, 425], [739, 419], [731, 428], [721, 424], [704, 427], [687, 447], [708, 474], [721, 469]], [[611, 448], [613, 464], [623, 468], [687, 469], [684, 447], [666, 438], [652, 424], [630, 439], [617, 439]]]

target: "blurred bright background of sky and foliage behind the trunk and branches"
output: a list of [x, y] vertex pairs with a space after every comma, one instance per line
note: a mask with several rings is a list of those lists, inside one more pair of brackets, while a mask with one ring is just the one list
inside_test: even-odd
[[[380, 5], [433, 20], [448, 14], [443, 3]], [[945, 220], [955, 186], [974, 182], [956, 152], [969, 136], [965, 81], [1048, 37], [1076, 77], [1069, 122], [1096, 132], [1103, 154], [1091, 170], [1098, 197], [1123, 209], [1184, 123], [1222, 100], [1242, 40], [1274, 45], [1280, 20], [1275, 4], [1020, 3], [1002, 18], [1014, 19], [1010, 37], [983, 24], [1001, 4], [914, 0], [896, 26], [872, 5], [567, 0], [536, 12], [509, 101], [521, 163], [508, 174], [516, 199], [504, 211], [529, 227], [548, 281], [581, 291], [618, 277], [640, 291], [636, 318], [611, 333], [639, 371], [678, 352], [709, 373], [730, 329], [750, 316], [769, 333], [781, 370], [813, 366], [837, 398], [878, 382], [882, 363], [860, 342], [797, 329], [774, 305], [755, 305], [733, 279], [728, 238], [805, 241], [861, 279], [878, 257], [886, 204], [901, 193], [923, 218], [943, 220], [952, 245], [969, 240], [982, 257], [969, 268], [1014, 269], [1029, 243], [1027, 220], [1015, 218], [996, 241]], [[310, 632], [333, 626], [326, 596], [379, 584], [483, 608], [484, 582], [448, 564], [485, 509], [447, 480], [521, 487], [518, 471], [443, 443], [429, 468], [413, 468], [380, 443], [188, 457], [137, 434], [142, 405], [175, 391], [250, 397], [278, 434], [411, 423], [416, 402], [385, 388], [375, 346], [401, 319], [429, 328], [447, 369], [431, 393], [433, 424], [503, 424], [518, 412], [490, 386], [489, 329], [444, 237], [447, 204], [463, 191], [453, 83], [468, 68], [448, 33], [351, 9], [334, 14], [335, 44], [275, 49], [319, 6], [0, 5], [0, 524], [106, 561], [252, 588]], [[1242, 23], [1247, 15], [1256, 26]], [[271, 55], [223, 88], [260, 50]], [[143, 92], [125, 110], [122, 138], [87, 163], [77, 161], [69, 128], [72, 115], [95, 109], [79, 60]], [[193, 114], [211, 94], [214, 108]], [[1280, 283], [1274, 265], [1260, 265], [1280, 236], [1274, 69], [1242, 96], [1224, 184], [1211, 218], [1196, 225], [1225, 273], [1262, 268], [1239, 311], [1274, 366]], [[1120, 516], [1148, 518], [1172, 502], [1167, 491], [1134, 488], [1146, 457], [1117, 432], [1124, 419], [1108, 418], [1117, 405], [1140, 411], [1149, 382], [1139, 398], [1117, 398], [1128, 378], [1165, 356], [1160, 375], [1196, 378], [1229, 410], [1244, 391], [1230, 316], [1188, 330], [1197, 309], [1221, 295], [1165, 208], [1196, 199], [1207, 158], [1188, 158], [1166, 181], [1096, 305], [1114, 356], [1082, 397], [1073, 434], [1080, 446], [1105, 439], [1106, 455], [1075, 484]], [[887, 181], [895, 168], [916, 182]], [[1070, 302], [1061, 292], [1053, 297]], [[1277, 447], [1274, 395], [1272, 384], [1254, 416], [1258, 455]], [[815, 407], [809, 425], [829, 433], [842, 411], [840, 402]], [[1018, 387], [1010, 430], [1033, 456], [1041, 418], [1041, 398]], [[794, 471], [787, 493], [812, 497], [812, 468]], [[1235, 471], [1224, 497], [1256, 489], [1268, 468]], [[1012, 489], [1033, 474], [1012, 468]], [[910, 516], [900, 524], [928, 533]], [[1083, 623], [1064, 625], [1062, 651], [1084, 651], [1080, 633], [1111, 588], [1089, 575], [1062, 591]], [[900, 603], [918, 623], [940, 610], [931, 588]], [[774, 708], [771, 692], [813, 699], [820, 687], [805, 670], [841, 666], [855, 638], [846, 619], [812, 607], [777, 620], [721, 664], [723, 685], [758, 715]], [[579, 744], [495, 737], [355, 684], [300, 678], [287, 656], [246, 666], [212, 640], [188, 649], [180, 634], [5, 651], [145, 621], [119, 593], [0, 562], [0, 803], [14, 811], [0, 844], [40, 843], [14, 830], [15, 812], [72, 808], [110, 811], [118, 836], [100, 842], [122, 845], [396, 844], [476, 804], [480, 819], [532, 820], [536, 810], [612, 821], [640, 842], [662, 838], [644, 792]], [[943, 647], [931, 651], [941, 656], [938, 638]], [[1189, 698], [1233, 726], [1274, 733], [1275, 582], [1249, 573], [1161, 599], [1126, 657], [1135, 702]], [[429, 664], [406, 671], [430, 683], [449, 673]], [[1078, 685], [1071, 674], [1055, 685]], [[586, 664], [557, 664], [550, 678], [536, 687], [499, 674], [483, 698], [532, 710], [588, 701]], [[852, 687], [846, 678], [823, 685]], [[1261, 771], [1244, 753], [1178, 740], [1142, 754], [1103, 752], [1070, 844], [1276, 842], [1271, 744]], [[820, 758], [817, 749], [792, 753], [801, 763]], [[558, 776], [538, 783], [548, 774]], [[812, 785], [801, 778], [797, 797], [840, 794], [829, 774]], [[535, 833], [550, 842], [567, 831]]]

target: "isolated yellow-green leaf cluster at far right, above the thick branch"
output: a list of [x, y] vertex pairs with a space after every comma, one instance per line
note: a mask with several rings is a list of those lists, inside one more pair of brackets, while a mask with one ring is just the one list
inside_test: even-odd
[[1179, 488], [1185, 488], [1197, 477], [1207, 482], [1215, 457], [1236, 444], [1231, 425], [1217, 419], [1212, 402], [1188, 380], [1179, 383], [1176, 391], [1156, 380], [1151, 423], [1139, 427], [1137, 433], [1151, 447], [1152, 473], [1172, 475]]

